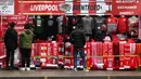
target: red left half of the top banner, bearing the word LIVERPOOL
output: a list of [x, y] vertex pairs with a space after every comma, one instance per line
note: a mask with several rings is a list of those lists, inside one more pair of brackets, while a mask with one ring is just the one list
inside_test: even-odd
[[61, 1], [22, 1], [18, 2], [18, 14], [63, 14], [59, 6], [61, 3]]

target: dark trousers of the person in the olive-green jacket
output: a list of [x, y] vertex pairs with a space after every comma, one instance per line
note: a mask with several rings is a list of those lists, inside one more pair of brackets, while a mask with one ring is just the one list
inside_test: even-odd
[[21, 48], [20, 51], [21, 51], [21, 55], [22, 55], [22, 67], [25, 67], [25, 64], [26, 64], [26, 67], [29, 67], [31, 49]]

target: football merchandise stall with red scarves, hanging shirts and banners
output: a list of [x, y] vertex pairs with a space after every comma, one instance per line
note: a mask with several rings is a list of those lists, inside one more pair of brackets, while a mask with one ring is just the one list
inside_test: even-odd
[[[21, 32], [25, 23], [34, 24], [33, 67], [74, 65], [69, 34], [80, 27], [87, 37], [88, 69], [136, 69], [140, 65], [139, 0], [22, 0], [16, 15], [2, 15], [2, 31], [16, 22]], [[18, 30], [20, 29], [20, 30]], [[81, 68], [81, 58], [78, 58]]]

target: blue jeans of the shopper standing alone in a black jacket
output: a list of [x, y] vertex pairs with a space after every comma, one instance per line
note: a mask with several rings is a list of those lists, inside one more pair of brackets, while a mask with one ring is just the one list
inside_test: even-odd
[[81, 48], [81, 49], [74, 49], [74, 68], [77, 68], [77, 55], [78, 55], [78, 52], [80, 54], [80, 57], [82, 58], [82, 65], [84, 65], [84, 68], [87, 68], [86, 66], [86, 58], [85, 58], [85, 50]]

